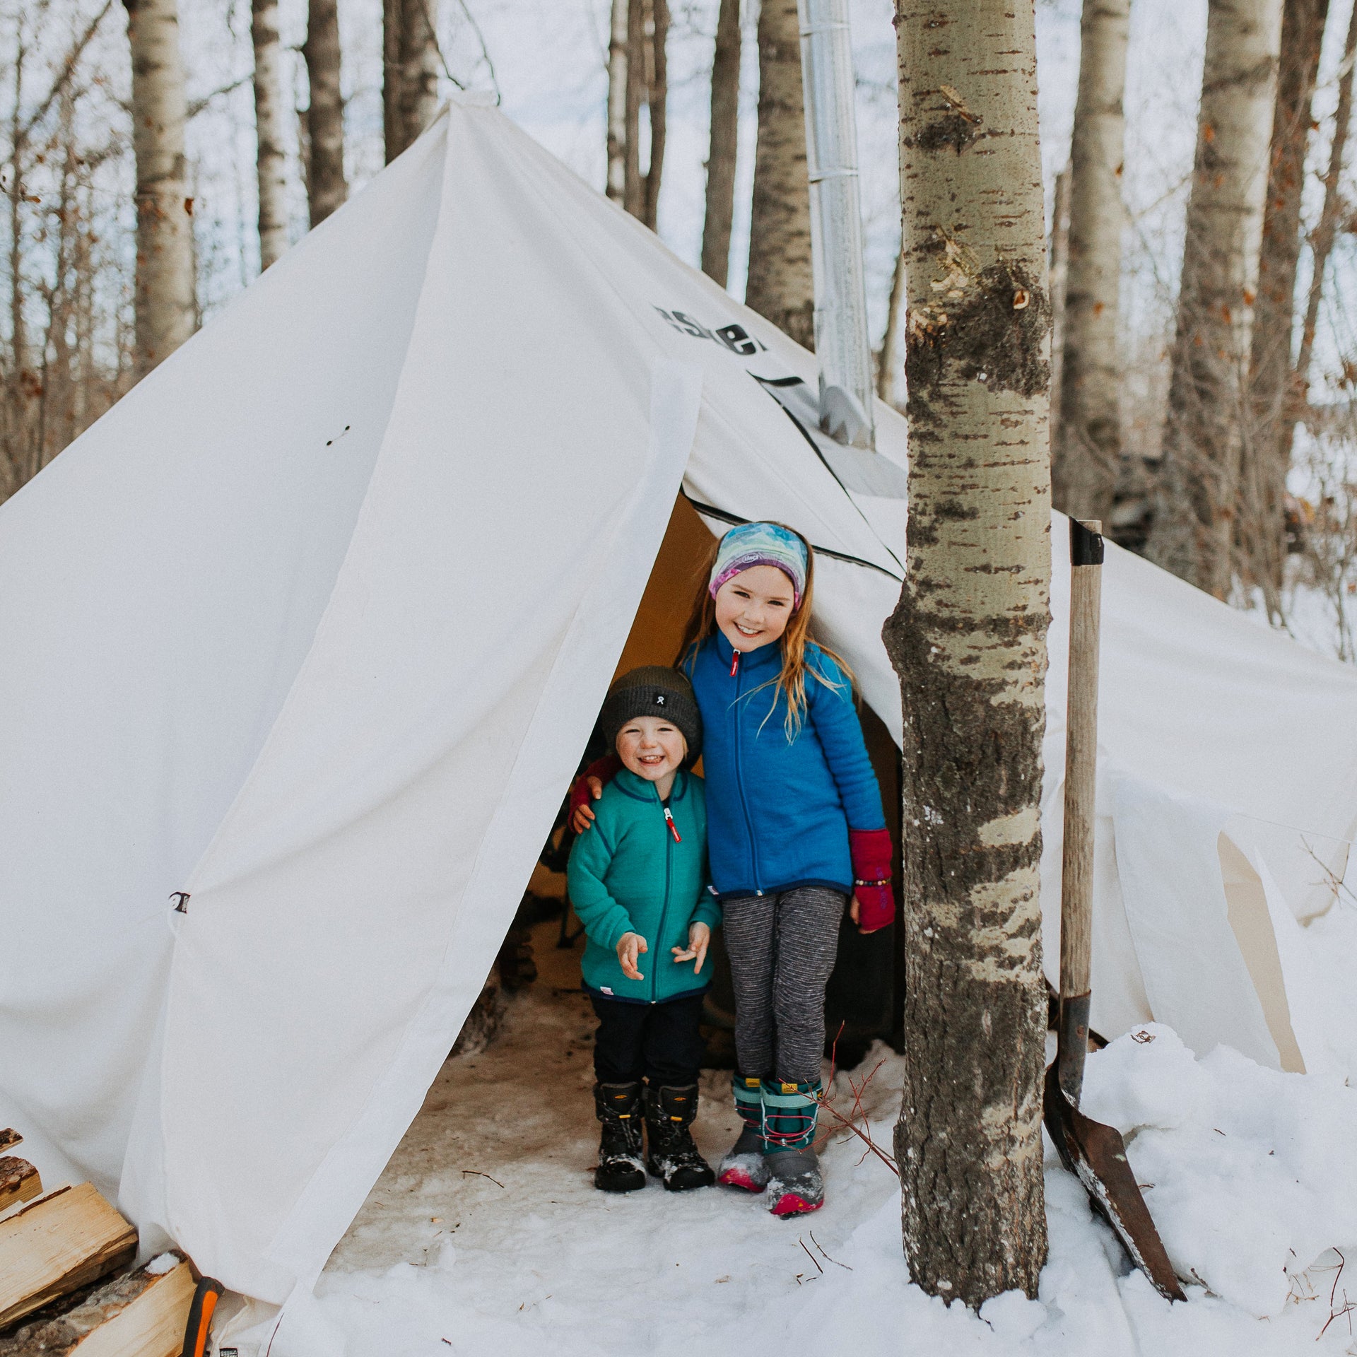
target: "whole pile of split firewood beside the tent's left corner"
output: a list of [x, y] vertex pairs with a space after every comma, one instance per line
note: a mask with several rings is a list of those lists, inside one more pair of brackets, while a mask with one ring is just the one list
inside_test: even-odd
[[[0, 1130], [0, 1155], [22, 1139]], [[31, 1163], [0, 1156], [0, 1357], [179, 1357], [193, 1267], [136, 1255], [137, 1231], [92, 1183], [45, 1193]]]

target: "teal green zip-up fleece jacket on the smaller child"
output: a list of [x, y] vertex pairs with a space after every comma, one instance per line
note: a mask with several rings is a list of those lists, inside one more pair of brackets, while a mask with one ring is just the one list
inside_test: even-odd
[[[609, 999], [660, 1004], [700, 993], [711, 982], [693, 961], [673, 958], [688, 946], [688, 925], [721, 923], [721, 905], [707, 890], [707, 799], [702, 779], [680, 771], [669, 792], [674, 833], [655, 784], [623, 768], [593, 803], [594, 822], [570, 849], [570, 902], [585, 925], [585, 988]], [[617, 942], [641, 934], [649, 951], [628, 980]]]

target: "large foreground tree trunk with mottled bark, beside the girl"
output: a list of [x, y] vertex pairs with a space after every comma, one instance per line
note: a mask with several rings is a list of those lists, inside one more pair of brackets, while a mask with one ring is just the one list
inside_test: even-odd
[[904, 697], [909, 1274], [978, 1305], [1046, 1261], [1041, 741], [1050, 578], [1033, 5], [897, 0], [909, 560]]

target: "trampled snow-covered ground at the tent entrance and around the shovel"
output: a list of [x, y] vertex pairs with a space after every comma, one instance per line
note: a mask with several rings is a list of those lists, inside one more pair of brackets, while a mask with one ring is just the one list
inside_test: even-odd
[[[499, 1039], [444, 1067], [315, 1305], [256, 1330], [273, 1357], [772, 1357], [788, 1343], [854, 1357], [1357, 1353], [1357, 1091], [1345, 1080], [1227, 1049], [1197, 1060], [1159, 1026], [1113, 1042], [1090, 1058], [1086, 1110], [1140, 1128], [1137, 1179], [1201, 1285], [1186, 1305], [1162, 1300], [1052, 1156], [1041, 1299], [1011, 1293], [977, 1316], [909, 1284], [896, 1178], [854, 1137], [832, 1139], [828, 1204], [799, 1220], [719, 1189], [596, 1191], [592, 1015], [577, 954], [556, 951], [552, 930], [537, 932], [541, 978]], [[878, 1048], [851, 1077], [878, 1065], [864, 1106], [889, 1147], [898, 1058]], [[712, 1158], [735, 1130], [725, 1084], [706, 1076], [696, 1126]], [[837, 1099], [852, 1102], [844, 1075]]]

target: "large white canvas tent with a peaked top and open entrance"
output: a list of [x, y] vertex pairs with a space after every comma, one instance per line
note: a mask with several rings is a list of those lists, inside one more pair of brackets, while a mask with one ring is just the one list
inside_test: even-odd
[[[145, 1239], [275, 1303], [319, 1272], [490, 968], [680, 489], [821, 548], [821, 630], [898, 729], [904, 422], [878, 407], [875, 461], [825, 448], [797, 379], [457, 103], [0, 509], [0, 1094]], [[1095, 1025], [1322, 1061], [1300, 835], [1345, 870], [1357, 676], [1105, 574]]]

